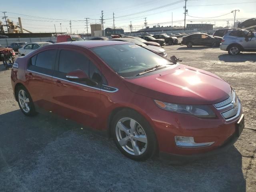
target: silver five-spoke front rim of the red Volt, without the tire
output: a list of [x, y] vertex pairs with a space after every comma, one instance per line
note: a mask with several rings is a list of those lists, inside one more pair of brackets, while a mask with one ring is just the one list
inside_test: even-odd
[[116, 124], [118, 144], [129, 154], [143, 154], [148, 145], [148, 139], [142, 126], [132, 118], [122, 118]]

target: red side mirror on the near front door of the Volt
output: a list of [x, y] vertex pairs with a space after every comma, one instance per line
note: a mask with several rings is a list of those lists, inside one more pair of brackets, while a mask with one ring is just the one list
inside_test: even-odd
[[80, 69], [69, 72], [68, 74], [66, 74], [66, 78], [68, 80], [74, 81], [74, 82], [87, 82], [88, 84], [90, 84], [92, 86], [98, 85], [97, 82], [95, 82], [94, 80], [91, 80], [89, 78], [89, 76], [84, 71], [82, 71]]

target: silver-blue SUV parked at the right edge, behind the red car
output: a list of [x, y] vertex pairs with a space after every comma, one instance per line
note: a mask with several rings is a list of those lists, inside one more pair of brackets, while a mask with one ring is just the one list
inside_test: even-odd
[[256, 52], [256, 33], [248, 30], [231, 30], [222, 38], [220, 49], [228, 51], [230, 55], [237, 55], [241, 51]]

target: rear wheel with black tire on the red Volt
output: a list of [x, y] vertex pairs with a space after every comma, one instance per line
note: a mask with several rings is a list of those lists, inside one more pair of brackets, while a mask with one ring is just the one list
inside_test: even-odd
[[15, 91], [15, 95], [22, 113], [26, 116], [35, 116], [37, 114], [33, 100], [24, 86], [18, 86]]

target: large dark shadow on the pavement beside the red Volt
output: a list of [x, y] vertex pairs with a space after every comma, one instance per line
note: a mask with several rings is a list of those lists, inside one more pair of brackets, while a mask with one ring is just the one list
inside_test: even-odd
[[0, 115], [0, 191], [244, 192], [242, 157], [232, 147], [182, 166], [136, 162], [111, 139], [53, 116]]

